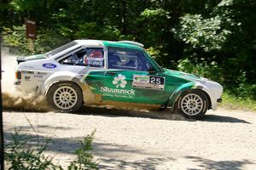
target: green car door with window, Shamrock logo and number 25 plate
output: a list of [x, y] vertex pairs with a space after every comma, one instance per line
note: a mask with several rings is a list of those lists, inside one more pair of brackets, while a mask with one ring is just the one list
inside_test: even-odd
[[145, 52], [137, 49], [108, 48], [102, 100], [166, 104], [165, 76], [154, 71]]

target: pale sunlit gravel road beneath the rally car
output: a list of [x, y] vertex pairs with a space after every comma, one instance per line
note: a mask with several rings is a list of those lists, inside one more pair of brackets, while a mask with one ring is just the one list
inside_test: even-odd
[[96, 129], [101, 169], [256, 169], [256, 113], [219, 109], [193, 121], [168, 111], [85, 107], [76, 114], [3, 113], [5, 139], [14, 128], [50, 137], [48, 154], [67, 166], [79, 140]]

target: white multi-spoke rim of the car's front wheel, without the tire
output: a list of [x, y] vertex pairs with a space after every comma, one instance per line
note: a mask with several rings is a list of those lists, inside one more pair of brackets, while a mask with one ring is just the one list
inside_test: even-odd
[[187, 94], [181, 100], [181, 109], [186, 115], [195, 116], [203, 109], [203, 101], [197, 94]]

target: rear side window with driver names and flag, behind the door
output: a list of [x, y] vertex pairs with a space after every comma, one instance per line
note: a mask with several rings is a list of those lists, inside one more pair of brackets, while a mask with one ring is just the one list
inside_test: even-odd
[[83, 48], [62, 59], [64, 65], [83, 65], [92, 67], [104, 67], [103, 48]]

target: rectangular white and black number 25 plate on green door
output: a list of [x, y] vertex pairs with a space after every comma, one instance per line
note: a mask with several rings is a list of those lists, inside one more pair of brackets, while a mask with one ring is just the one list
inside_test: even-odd
[[133, 88], [149, 88], [155, 90], [164, 90], [165, 77], [152, 77], [147, 75], [133, 75]]

